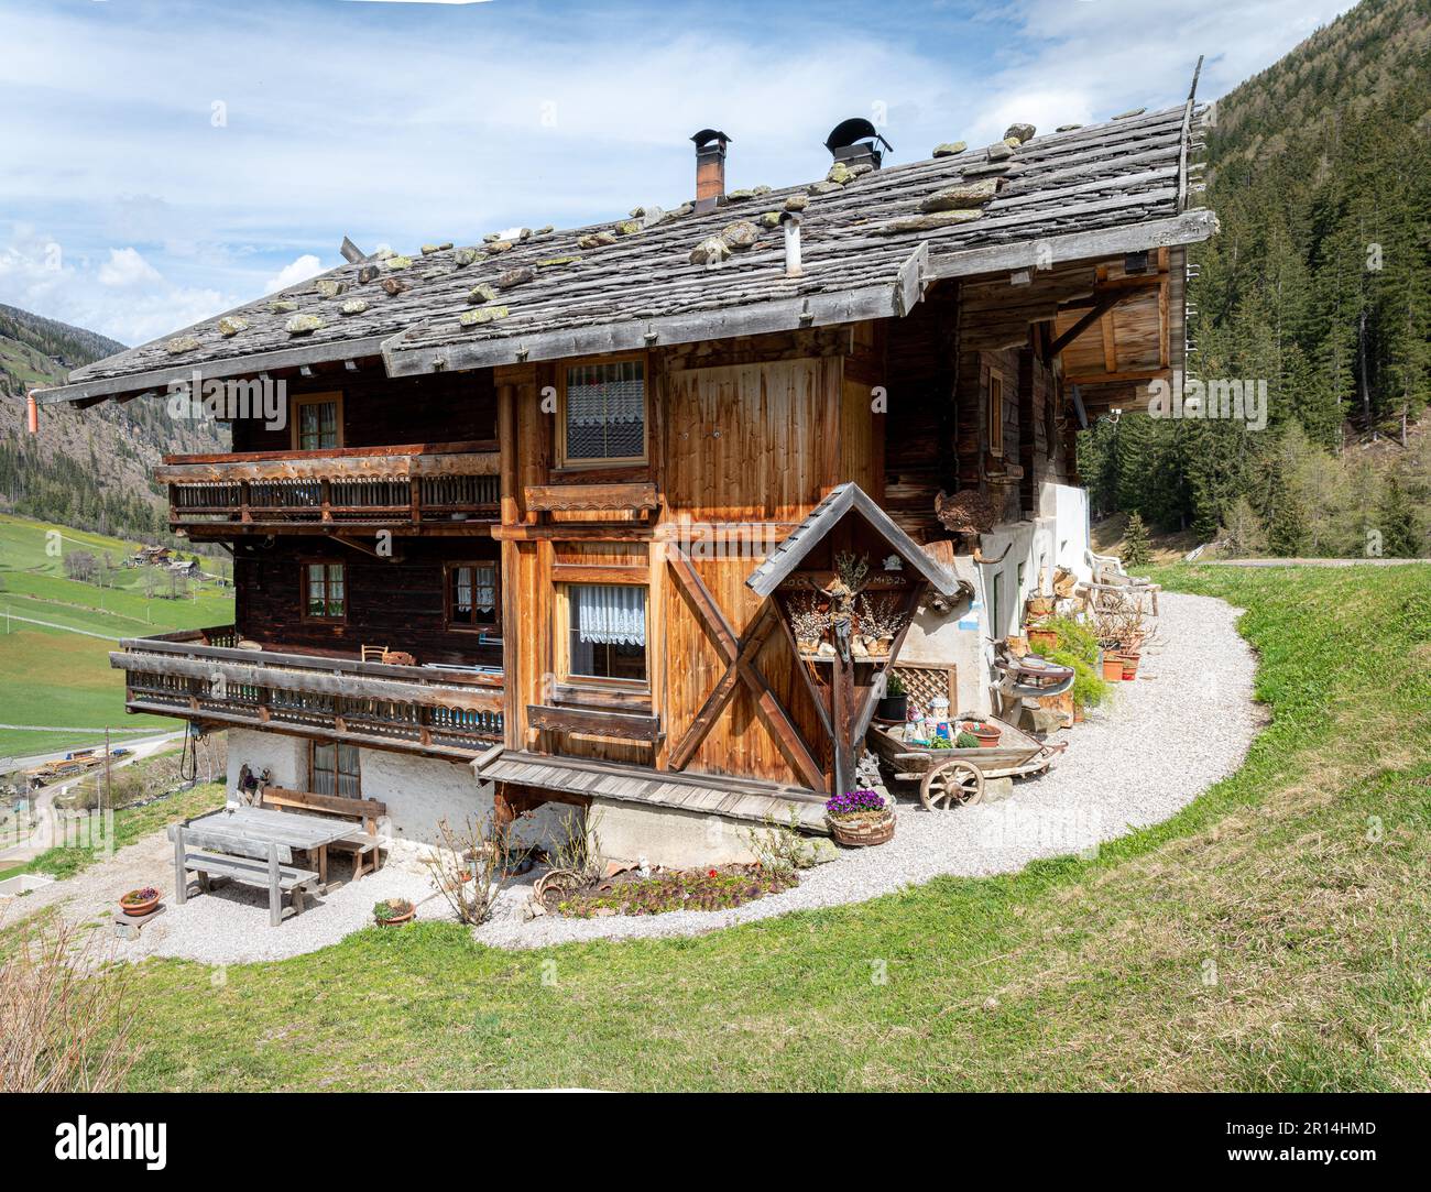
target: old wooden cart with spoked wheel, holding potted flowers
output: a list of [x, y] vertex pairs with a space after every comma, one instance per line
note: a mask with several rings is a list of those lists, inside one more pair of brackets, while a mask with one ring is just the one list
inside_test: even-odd
[[927, 811], [969, 807], [983, 798], [987, 778], [1025, 778], [1049, 768], [1068, 741], [1046, 746], [1036, 737], [995, 717], [985, 717], [1003, 731], [993, 748], [930, 748], [904, 740], [903, 724], [871, 724], [866, 744], [874, 751], [884, 784], [917, 781]]

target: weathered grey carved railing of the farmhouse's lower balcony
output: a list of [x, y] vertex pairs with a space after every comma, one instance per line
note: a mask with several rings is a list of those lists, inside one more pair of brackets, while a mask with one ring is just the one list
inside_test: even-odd
[[502, 677], [239, 648], [232, 625], [127, 638], [133, 713], [472, 758], [502, 740]]

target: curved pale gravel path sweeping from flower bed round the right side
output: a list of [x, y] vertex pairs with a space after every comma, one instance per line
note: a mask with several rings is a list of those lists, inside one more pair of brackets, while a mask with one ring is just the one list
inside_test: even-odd
[[1158, 638], [1143, 645], [1135, 683], [1069, 733], [1069, 748], [999, 803], [929, 813], [903, 800], [889, 844], [849, 850], [800, 884], [728, 912], [610, 919], [522, 919], [524, 890], [502, 896], [474, 934], [498, 947], [568, 940], [694, 936], [793, 910], [893, 893], [940, 874], [1012, 873], [1039, 857], [1085, 853], [1130, 829], [1169, 819], [1242, 764], [1261, 714], [1256, 658], [1238, 637], [1241, 610], [1211, 597], [1165, 592]]

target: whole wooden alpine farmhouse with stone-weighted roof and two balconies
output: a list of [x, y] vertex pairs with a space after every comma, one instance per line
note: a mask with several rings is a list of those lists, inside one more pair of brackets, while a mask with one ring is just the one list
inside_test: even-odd
[[853, 120], [784, 189], [727, 189], [707, 129], [674, 210], [345, 242], [76, 369], [39, 401], [229, 402], [233, 451], [155, 479], [232, 551], [235, 624], [124, 641], [129, 710], [399, 836], [597, 806], [611, 856], [691, 864], [791, 803], [821, 830], [892, 667], [986, 711], [990, 641], [1088, 575], [1075, 434], [1183, 365], [1195, 123], [887, 165]]

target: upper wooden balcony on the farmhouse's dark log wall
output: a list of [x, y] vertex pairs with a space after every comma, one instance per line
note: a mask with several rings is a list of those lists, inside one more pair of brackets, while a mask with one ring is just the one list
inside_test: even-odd
[[499, 517], [497, 445], [484, 442], [166, 455], [169, 527], [190, 538], [339, 529], [464, 534]]

